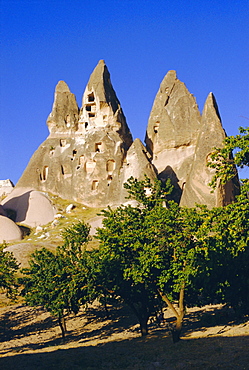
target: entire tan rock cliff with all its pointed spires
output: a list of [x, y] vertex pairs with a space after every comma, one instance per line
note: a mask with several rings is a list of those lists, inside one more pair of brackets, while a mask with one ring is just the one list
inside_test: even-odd
[[90, 207], [126, 201], [130, 176], [175, 186], [173, 199], [184, 206], [209, 207], [234, 199], [234, 184], [210, 193], [206, 167], [214, 146], [225, 137], [217, 105], [209, 95], [201, 116], [195, 98], [169, 71], [156, 95], [146, 131], [146, 147], [133, 142], [110, 74], [100, 61], [86, 86], [79, 109], [67, 84], [56, 86], [47, 119], [48, 138], [32, 156], [17, 187], [51, 192]]

